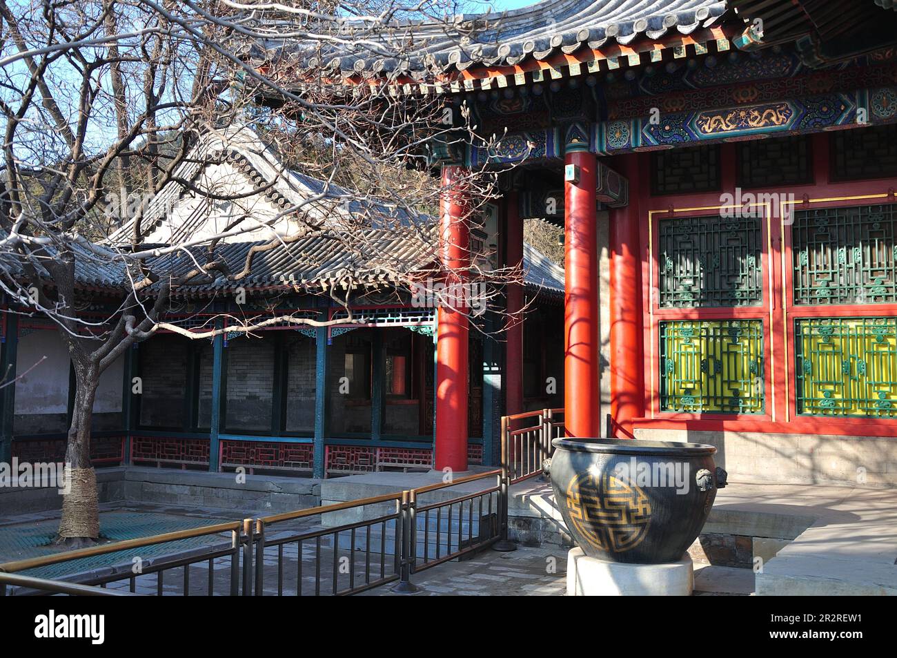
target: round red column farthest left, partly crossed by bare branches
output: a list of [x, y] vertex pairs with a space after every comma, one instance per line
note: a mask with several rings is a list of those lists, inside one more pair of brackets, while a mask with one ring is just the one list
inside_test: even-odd
[[[463, 189], [466, 170], [442, 167], [440, 254], [448, 269], [446, 285], [465, 279], [470, 266], [470, 230]], [[442, 303], [436, 329], [436, 469], [467, 469], [467, 316], [466, 309]]]

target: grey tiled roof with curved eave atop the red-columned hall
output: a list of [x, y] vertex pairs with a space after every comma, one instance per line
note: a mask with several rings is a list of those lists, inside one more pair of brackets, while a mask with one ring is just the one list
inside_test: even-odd
[[[640, 38], [659, 39], [667, 32], [690, 34], [718, 21], [726, 11], [726, 0], [543, 0], [507, 12], [460, 14], [453, 25], [395, 23], [388, 36], [378, 35], [381, 48], [368, 44], [354, 51], [331, 48], [322, 53], [319, 64], [359, 73], [414, 71], [422, 68], [424, 57], [447, 69], [516, 65], [529, 57], [541, 60], [585, 46], [600, 48], [607, 42], [626, 45]], [[274, 39], [261, 45], [269, 52], [301, 48]], [[406, 62], [388, 55], [407, 50], [414, 55]]]

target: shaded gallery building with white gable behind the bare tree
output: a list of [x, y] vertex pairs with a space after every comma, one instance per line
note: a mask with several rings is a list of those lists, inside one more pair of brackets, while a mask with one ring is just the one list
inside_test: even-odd
[[[216, 190], [217, 198], [170, 182], [142, 219], [142, 244], [211, 238], [238, 215], [248, 214], [256, 227], [225, 238], [216, 249], [236, 273], [246, 267], [250, 250], [275, 235], [300, 230], [302, 223], [292, 215], [271, 224], [285, 207], [323, 195], [305, 212], [321, 215], [333, 229], [260, 250], [249, 276], [187, 281], [171, 295], [166, 320], [197, 331], [227, 329], [229, 321], [256, 324], [287, 316], [329, 324], [274, 322], [251, 335], [234, 330], [213, 339], [161, 329], [102, 374], [93, 408], [94, 463], [245, 467], [316, 477], [429, 468], [435, 303], [414, 299], [404, 277], [399, 290], [390, 272], [431, 271], [437, 241], [431, 218], [415, 219], [422, 235], [430, 236], [426, 241], [391, 229], [341, 229], [333, 215], [344, 212], [346, 190], [300, 172], [284, 174], [278, 154], [246, 127], [207, 128], [181, 165], [179, 178], [192, 189]], [[349, 212], [376, 220], [395, 215], [396, 207], [369, 204], [351, 206]], [[134, 230], [131, 220], [109, 242], [124, 248]], [[489, 235], [495, 233], [492, 228]], [[489, 237], [484, 227], [471, 234], [478, 241]], [[478, 252], [487, 249], [484, 245]], [[492, 245], [492, 250], [503, 249]], [[164, 270], [177, 275], [192, 269], [196, 259], [204, 258], [202, 248], [194, 251], [162, 257], [172, 259]], [[525, 373], [522, 394], [531, 406], [556, 407], [562, 380], [550, 390], [540, 382], [562, 373], [563, 270], [528, 244], [515, 258], [522, 259], [524, 303], [533, 311], [524, 320], [527, 342], [517, 364]], [[129, 284], [122, 268], [91, 262], [85, 255], [76, 273], [82, 312], [86, 319], [102, 321], [114, 315]], [[338, 294], [327, 294], [333, 289]], [[334, 297], [348, 299], [348, 306]], [[475, 330], [466, 364], [466, 458], [471, 463], [493, 463], [499, 451], [504, 337], [497, 330], [501, 318], [487, 308], [493, 305], [489, 295], [483, 304], [482, 312], [471, 312]], [[2, 368], [7, 379], [15, 380], [0, 389], [4, 448], [20, 461], [61, 461], [74, 405], [69, 355], [51, 321], [19, 311], [26, 314], [2, 314]]]

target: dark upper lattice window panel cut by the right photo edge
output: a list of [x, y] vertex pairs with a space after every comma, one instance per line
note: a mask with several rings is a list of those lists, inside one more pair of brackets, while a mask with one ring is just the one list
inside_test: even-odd
[[797, 211], [791, 230], [795, 303], [897, 302], [895, 208]]

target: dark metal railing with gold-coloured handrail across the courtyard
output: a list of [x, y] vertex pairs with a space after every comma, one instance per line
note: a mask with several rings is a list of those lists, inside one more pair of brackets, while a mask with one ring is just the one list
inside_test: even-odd
[[[207, 569], [202, 588], [205, 592], [196, 593], [206, 595], [344, 595], [388, 583], [396, 583], [397, 592], [414, 592], [414, 574], [489, 546], [514, 548], [508, 540], [509, 487], [543, 472], [543, 462], [552, 453], [552, 439], [562, 436], [563, 429], [563, 409], [502, 417], [501, 469], [255, 520], [7, 562], [0, 565], [0, 596], [13, 593], [7, 591], [11, 587], [16, 594], [189, 595], [191, 574], [200, 567]], [[471, 483], [492, 478], [494, 484], [466, 490]], [[440, 498], [438, 492], [451, 487], [462, 488]], [[358, 518], [328, 526], [336, 513], [354, 513]], [[318, 523], [309, 527], [315, 518]], [[226, 540], [226, 533], [230, 533], [230, 540]], [[141, 561], [139, 569], [126, 565], [102, 574], [80, 575], [77, 583], [19, 574], [87, 557], [216, 535], [222, 535], [221, 541], [211, 546], [179, 551], [145, 564]], [[166, 592], [166, 575], [176, 570], [180, 570], [180, 589], [170, 587]], [[176, 583], [172, 579], [167, 582]]]

